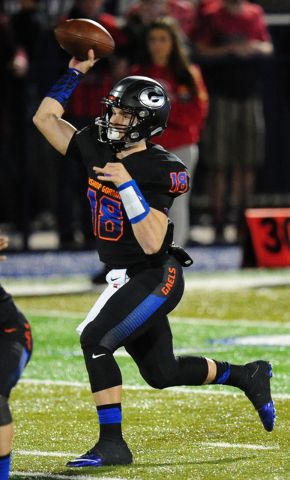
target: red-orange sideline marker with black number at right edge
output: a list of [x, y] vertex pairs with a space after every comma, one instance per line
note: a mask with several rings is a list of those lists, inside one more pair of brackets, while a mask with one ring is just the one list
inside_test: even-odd
[[259, 267], [290, 266], [290, 208], [245, 212]]

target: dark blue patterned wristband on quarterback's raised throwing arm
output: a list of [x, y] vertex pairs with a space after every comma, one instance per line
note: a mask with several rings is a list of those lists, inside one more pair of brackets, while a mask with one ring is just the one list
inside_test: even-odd
[[76, 68], [69, 68], [46, 96], [54, 98], [61, 104], [63, 108], [65, 108], [70, 95], [81, 81], [83, 76], [84, 73], [80, 72]]

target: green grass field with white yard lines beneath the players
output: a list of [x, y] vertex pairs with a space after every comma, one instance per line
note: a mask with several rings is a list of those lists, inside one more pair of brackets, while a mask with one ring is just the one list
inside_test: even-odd
[[[5, 286], [5, 283], [4, 283]], [[290, 287], [186, 291], [170, 319], [176, 353], [273, 364], [276, 426], [264, 431], [247, 398], [231, 387], [146, 386], [120, 350], [124, 436], [134, 454], [128, 467], [75, 469], [66, 462], [94, 445], [97, 414], [91, 399], [78, 323], [97, 294], [17, 298], [30, 320], [34, 354], [13, 390], [16, 423], [11, 478], [123, 480], [290, 479], [289, 347], [235, 345], [224, 338], [290, 335]], [[286, 337], [285, 337], [286, 338]]]

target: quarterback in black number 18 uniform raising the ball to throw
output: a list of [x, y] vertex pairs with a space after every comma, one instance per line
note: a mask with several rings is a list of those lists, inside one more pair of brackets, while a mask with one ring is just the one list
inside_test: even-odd
[[69, 95], [95, 61], [93, 50], [84, 62], [73, 58], [34, 116], [59, 152], [87, 168], [97, 249], [108, 267], [108, 287], [77, 329], [100, 437], [67, 466], [133, 461], [122, 435], [122, 376], [113, 355], [122, 346], [154, 388], [214, 383], [242, 389], [271, 431], [275, 411], [269, 362], [231, 365], [173, 352], [167, 315], [183, 295], [182, 266], [190, 258], [172, 247], [168, 212], [174, 198], [188, 190], [189, 179], [179, 158], [149, 142], [166, 128], [166, 91], [150, 78], [127, 77], [103, 99], [103, 114], [94, 125], [77, 131], [61, 118]]

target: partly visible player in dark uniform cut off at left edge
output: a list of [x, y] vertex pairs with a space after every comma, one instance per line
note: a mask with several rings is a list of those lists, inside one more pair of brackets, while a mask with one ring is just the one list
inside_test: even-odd
[[[0, 237], [0, 250], [8, 237]], [[0, 256], [0, 261], [6, 257]], [[30, 325], [0, 284], [0, 480], [8, 480], [14, 434], [9, 396], [32, 353]]]

